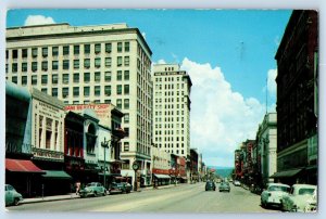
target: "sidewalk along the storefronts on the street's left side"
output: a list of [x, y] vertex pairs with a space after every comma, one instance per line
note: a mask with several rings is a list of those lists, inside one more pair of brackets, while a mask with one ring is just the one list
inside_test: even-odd
[[[179, 186], [180, 184], [168, 184], [168, 185], [161, 185], [156, 189], [153, 189], [153, 186], [147, 186], [147, 188], [140, 188], [139, 191], [147, 191], [147, 190], [162, 190], [162, 189], [168, 189], [174, 186]], [[134, 192], [134, 191], [131, 191]], [[109, 194], [108, 194], [109, 195]], [[24, 198], [20, 204], [30, 204], [30, 203], [41, 203], [41, 202], [53, 202], [53, 201], [61, 201], [61, 199], [74, 199], [74, 198], [80, 198], [79, 195], [76, 195], [76, 193], [71, 193], [66, 195], [53, 195], [53, 196], [45, 196], [45, 197], [30, 197], [30, 198]]]

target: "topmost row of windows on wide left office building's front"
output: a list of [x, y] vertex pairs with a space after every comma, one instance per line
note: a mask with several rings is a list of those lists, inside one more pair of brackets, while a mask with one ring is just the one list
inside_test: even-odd
[[[37, 57], [39, 50], [41, 50], [41, 56], [47, 57], [49, 55], [49, 48], [51, 48], [52, 56], [61, 55], [70, 55], [73, 52], [74, 55], [80, 54], [84, 50], [84, 54], [90, 54], [91, 52], [95, 54], [101, 53], [104, 49], [105, 53], [112, 52], [112, 43], [95, 43], [93, 51], [91, 51], [92, 44], [74, 44], [74, 46], [61, 46], [61, 47], [42, 47], [42, 48], [26, 48], [22, 49], [21, 57], [28, 57], [28, 54], [32, 57]], [[28, 52], [30, 51], [30, 53]], [[116, 43], [116, 52], [129, 52], [130, 51], [130, 43], [129, 42], [117, 42]], [[18, 50], [11, 50], [12, 59], [18, 57]], [[9, 50], [5, 50], [5, 59], [9, 59]]]

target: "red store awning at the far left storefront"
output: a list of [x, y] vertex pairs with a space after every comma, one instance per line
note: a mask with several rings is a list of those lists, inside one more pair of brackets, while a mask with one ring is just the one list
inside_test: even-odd
[[5, 169], [13, 172], [35, 172], [45, 173], [43, 170], [38, 168], [30, 160], [26, 159], [10, 159], [5, 158]]

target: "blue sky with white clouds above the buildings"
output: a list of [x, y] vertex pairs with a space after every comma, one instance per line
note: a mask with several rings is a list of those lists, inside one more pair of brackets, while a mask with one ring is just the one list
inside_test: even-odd
[[[208, 166], [234, 166], [275, 112], [274, 59], [290, 10], [10, 10], [7, 27], [126, 23], [139, 28], [153, 63], [177, 63], [192, 81], [190, 144]], [[267, 106], [267, 108], [266, 108]]]

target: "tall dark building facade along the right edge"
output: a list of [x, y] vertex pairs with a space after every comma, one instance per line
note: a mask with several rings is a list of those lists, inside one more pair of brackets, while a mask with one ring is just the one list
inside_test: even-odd
[[277, 173], [281, 182], [317, 183], [318, 15], [294, 10], [277, 61]]

